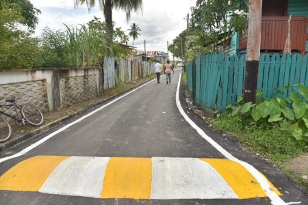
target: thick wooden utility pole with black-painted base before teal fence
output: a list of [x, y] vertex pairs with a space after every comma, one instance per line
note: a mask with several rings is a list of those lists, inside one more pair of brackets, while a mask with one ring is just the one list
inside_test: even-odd
[[244, 103], [255, 102], [261, 45], [262, 0], [249, 0]]

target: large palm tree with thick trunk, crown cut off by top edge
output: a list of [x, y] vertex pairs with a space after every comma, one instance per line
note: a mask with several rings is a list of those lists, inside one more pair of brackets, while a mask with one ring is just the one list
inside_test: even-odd
[[[85, 3], [90, 11], [91, 8], [94, 8], [96, 0], [74, 0], [75, 8]], [[129, 21], [132, 11], [137, 12], [138, 10], [142, 10], [142, 0], [99, 0], [99, 7], [103, 10], [106, 22], [105, 56], [110, 56], [113, 31], [112, 8], [124, 10], [126, 12], [126, 19]]]

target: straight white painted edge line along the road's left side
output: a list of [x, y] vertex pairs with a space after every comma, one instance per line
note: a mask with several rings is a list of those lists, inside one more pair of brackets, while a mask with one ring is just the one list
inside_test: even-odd
[[139, 90], [141, 87], [144, 87], [145, 85], [148, 85], [149, 83], [152, 83], [153, 81], [156, 81], [156, 79], [153, 79], [153, 80], [149, 81], [148, 83], [145, 83], [145, 84], [141, 85], [140, 87], [137, 87], [136, 89], [131, 90], [130, 92], [127, 92], [126, 94], [123, 94], [123, 96], [119, 96], [118, 98], [108, 102], [107, 104], [103, 105], [102, 107], [99, 107], [98, 109], [95, 109], [94, 111], [88, 113], [87, 115], [82, 116], [78, 120], [75, 120], [74, 122], [70, 122], [70, 124], [66, 124], [66, 126], [64, 126], [64, 127], [60, 128], [60, 129], [58, 129], [57, 131], [47, 135], [46, 137], [40, 139], [39, 141], [36, 141], [36, 143], [34, 143], [31, 146], [21, 150], [20, 152], [17, 152], [16, 154], [13, 154], [11, 156], [6, 156], [6, 157], [1, 158], [0, 159], [0, 163], [3, 163], [3, 161], [8, 161], [9, 159], [16, 158], [18, 156], [22, 156], [23, 154], [25, 154], [25, 153], [29, 152], [30, 150], [33, 150], [34, 148], [39, 146], [41, 143], [44, 143], [44, 141], [47, 141], [48, 139], [50, 139], [51, 137], [57, 135], [58, 133], [61, 133], [62, 131], [65, 131], [70, 126], [73, 126], [74, 124], [77, 124], [81, 120], [84, 120], [85, 118], [88, 118], [90, 115], [93, 115], [94, 113], [97, 113], [101, 109], [104, 109], [105, 107], [107, 107], [109, 105], [112, 105], [112, 103], [120, 100], [121, 98], [124, 98], [125, 96], [131, 94], [132, 92], [135, 92], [136, 90]]

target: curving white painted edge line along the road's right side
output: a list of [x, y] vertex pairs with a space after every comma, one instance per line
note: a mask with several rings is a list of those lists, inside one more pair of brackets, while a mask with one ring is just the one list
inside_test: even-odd
[[264, 176], [262, 176], [258, 172], [258, 170], [255, 169], [255, 167], [253, 167], [252, 165], [250, 165], [250, 164], [248, 164], [244, 161], [240, 161], [239, 159], [235, 158], [235, 156], [230, 154], [227, 150], [224, 150], [224, 148], [222, 148], [222, 146], [220, 146], [216, 141], [211, 139], [211, 137], [209, 137], [207, 134], [205, 134], [205, 132], [201, 128], [199, 128], [192, 120], [190, 120], [188, 115], [186, 115], [185, 111], [181, 107], [181, 102], [179, 100], [179, 87], [181, 85], [181, 74], [182, 74], [182, 71], [179, 74], [179, 83], [177, 84], [177, 93], [176, 93], [175, 98], [176, 98], [176, 102], [177, 102], [177, 108], [179, 109], [181, 115], [183, 115], [183, 118], [185, 118], [185, 120], [190, 124], [190, 126], [192, 126], [198, 132], [198, 134], [201, 135], [201, 137], [203, 137], [206, 141], [208, 141], [211, 144], [211, 146], [216, 148], [216, 150], [218, 150], [218, 152], [223, 154], [227, 159], [230, 159], [231, 161], [235, 161], [237, 163], [240, 163], [243, 167], [245, 167], [247, 169], [247, 171], [249, 173], [251, 173], [256, 178], [257, 182], [259, 182], [260, 186], [262, 187], [262, 189], [264, 190], [266, 195], [268, 195], [268, 197], [270, 198], [272, 204], [274, 204], [274, 205], [285, 204], [285, 202], [283, 202], [281, 197], [279, 197], [279, 195], [277, 195], [277, 193], [275, 193], [272, 190], [272, 188], [270, 187], [270, 184], [268, 184], [268, 181], [266, 180], [266, 178]]

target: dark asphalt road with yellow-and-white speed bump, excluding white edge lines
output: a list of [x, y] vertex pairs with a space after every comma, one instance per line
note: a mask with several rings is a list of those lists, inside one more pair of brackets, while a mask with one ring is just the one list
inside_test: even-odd
[[[153, 81], [1, 162], [0, 204], [271, 204], [244, 167], [226, 159], [183, 118], [176, 105], [178, 79], [177, 70], [168, 85], [165, 77]], [[191, 111], [182, 88], [179, 98], [196, 125], [264, 174], [284, 202], [308, 204], [307, 194], [278, 169]], [[0, 153], [0, 161], [79, 118]]]

